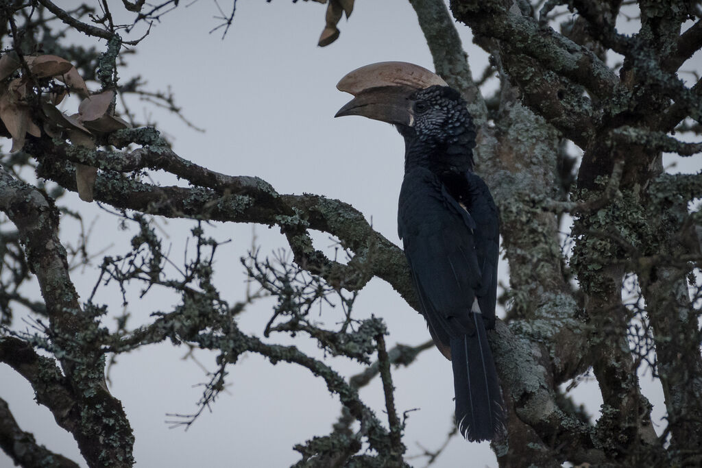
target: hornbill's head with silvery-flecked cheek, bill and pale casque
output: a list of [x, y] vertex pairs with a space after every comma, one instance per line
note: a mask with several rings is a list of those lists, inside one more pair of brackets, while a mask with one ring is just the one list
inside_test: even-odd
[[406, 62], [355, 69], [336, 85], [354, 98], [336, 117], [360, 115], [397, 126], [408, 148], [440, 148], [453, 170], [472, 167], [475, 126], [458, 91], [437, 74]]

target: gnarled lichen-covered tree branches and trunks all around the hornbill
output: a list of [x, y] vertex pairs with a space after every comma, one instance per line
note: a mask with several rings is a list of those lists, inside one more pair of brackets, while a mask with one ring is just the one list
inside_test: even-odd
[[[319, 45], [343, 41], [336, 25], [350, 15], [353, 0], [317, 1], [327, 4]], [[508, 411], [505, 437], [492, 446], [498, 462], [699, 466], [701, 219], [691, 201], [702, 197], [702, 178], [665, 173], [662, 158], [702, 152], [702, 87], [689, 60], [702, 46], [701, 6], [691, 0], [451, 0], [449, 11], [442, 0], [409, 1], [437, 73], [470, 103], [479, 128], [477, 172], [501, 211], [510, 284], [502, 298], [505, 320], [490, 336]], [[300, 441], [296, 466], [407, 464], [391, 364], [411, 365], [430, 343], [387, 347], [392, 330], [382, 318], [359, 320], [353, 309], [376, 276], [416, 307], [402, 251], [343, 201], [282, 194], [260, 178], [216, 173], [176, 154], [157, 126], [139, 121], [123, 99], [135, 94], [182, 116], [173, 94], [151, 91], [141, 76], [117, 77], [128, 54], [150, 39], [143, 34], [148, 25], [167, 25], [179, 2], [95, 4], [63, 10], [59, 1], [0, 1], [0, 133], [8, 138], [5, 148], [12, 146], [0, 160], [0, 361], [32, 385], [91, 467], [135, 463], [128, 416], [105, 383], [110, 356], [164, 341], [216, 352], [200, 411], [244, 353], [295, 363], [323, 379], [343, 411], [330, 415], [330, 424], [336, 418], [331, 433]], [[234, 18], [236, 1], [226, 4], [218, 2], [220, 22], [213, 27], [224, 36], [246, 21]], [[131, 22], [113, 20], [118, 8]], [[635, 30], [623, 34], [624, 24]], [[354, 27], [353, 18], [345, 27]], [[487, 69], [471, 73], [456, 27], [470, 27], [490, 54]], [[94, 46], [71, 44], [67, 28]], [[484, 93], [491, 79], [498, 91]], [[56, 107], [66, 93], [82, 100], [72, 115]], [[190, 186], [155, 185], [150, 171]], [[180, 296], [177, 307], [155, 314], [147, 326], [131, 328], [125, 317], [108, 328], [106, 314], [118, 315], [122, 305], [78, 297], [68, 259], [87, 263], [95, 253], [62, 246], [60, 215], [80, 218], [79, 208], [62, 204], [66, 191], [109, 207], [138, 233], [130, 251], [91, 267], [99, 277], [95, 290], [110, 283], [166, 288]], [[161, 217], [193, 220], [196, 247], [176, 268], [154, 227]], [[235, 304], [212, 282], [220, 243], [206, 234], [211, 221], [276, 226], [288, 242], [290, 254], [253, 249], [242, 259], [256, 288]], [[312, 229], [338, 239], [349, 260], [314, 248]], [[41, 297], [25, 295], [26, 283], [38, 283]], [[123, 290], [125, 304], [140, 300]], [[256, 335], [239, 328], [238, 316], [266, 295], [277, 305], [265, 330]], [[311, 311], [331, 302], [341, 305], [345, 320], [320, 325]], [[29, 330], [17, 323], [20, 307], [34, 317]], [[264, 339], [277, 334], [315, 340], [326, 355], [367, 368], [345, 379], [324, 359]], [[665, 394], [659, 434], [640, 391], [641, 366]], [[587, 373], [604, 401], [595, 424], [560, 390]], [[386, 415], [359, 397], [359, 387], [376, 376]], [[192, 424], [198, 414], [173, 420]], [[15, 462], [77, 466], [41, 446], [15, 419], [0, 399], [0, 446]], [[435, 455], [428, 453], [428, 461]]]

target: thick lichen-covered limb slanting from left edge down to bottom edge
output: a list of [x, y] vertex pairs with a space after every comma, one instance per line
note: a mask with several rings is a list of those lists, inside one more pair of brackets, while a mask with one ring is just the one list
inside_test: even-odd
[[[79, 305], [68, 274], [66, 251], [58, 239], [58, 210], [51, 199], [1, 166], [0, 210], [20, 232], [27, 262], [39, 280], [51, 323], [51, 346], [61, 356], [65, 382], [74, 395], [65, 403], [77, 412], [70, 432], [91, 466], [110, 460], [115, 467], [131, 467], [131, 427], [121, 403], [105, 387], [102, 352], [94, 340], [100, 333], [99, 323]], [[64, 424], [65, 415], [53, 413], [57, 422]]]

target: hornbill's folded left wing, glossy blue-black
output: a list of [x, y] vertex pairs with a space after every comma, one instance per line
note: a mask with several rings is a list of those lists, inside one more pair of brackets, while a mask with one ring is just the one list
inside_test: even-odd
[[481, 286], [472, 234], [476, 223], [439, 179], [421, 168], [405, 175], [397, 222], [423, 315], [447, 355], [451, 337], [475, 334], [469, 312]]

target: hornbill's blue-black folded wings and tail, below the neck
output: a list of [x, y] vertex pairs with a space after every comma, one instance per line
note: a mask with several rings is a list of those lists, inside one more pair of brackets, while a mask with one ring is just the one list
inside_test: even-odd
[[[459, 199], [468, 210], [449, 193], [455, 185], [447, 189], [423, 169], [406, 173], [397, 219], [420, 309], [452, 361], [458, 428], [466, 439], [482, 441], [492, 439], [504, 419], [485, 333], [495, 320], [499, 227], [482, 180], [461, 179]], [[482, 314], [471, 313], [476, 299]]]

